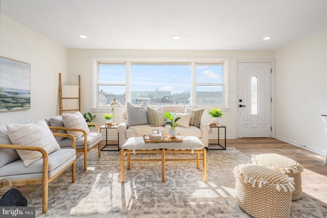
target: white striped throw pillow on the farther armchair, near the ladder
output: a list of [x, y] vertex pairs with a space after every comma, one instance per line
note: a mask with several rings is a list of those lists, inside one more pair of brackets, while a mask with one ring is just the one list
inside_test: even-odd
[[[87, 134], [90, 133], [85, 118], [81, 112], [77, 111], [76, 113], [63, 113], [61, 116], [64, 127], [82, 129], [85, 130]], [[72, 134], [76, 139], [84, 135], [81, 131], [67, 130], [67, 133]]]

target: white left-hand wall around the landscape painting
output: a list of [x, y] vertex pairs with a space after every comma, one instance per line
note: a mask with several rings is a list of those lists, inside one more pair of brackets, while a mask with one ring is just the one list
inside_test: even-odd
[[59, 113], [59, 73], [67, 81], [67, 49], [0, 14], [0, 56], [31, 64], [31, 109], [0, 113], [0, 124]]

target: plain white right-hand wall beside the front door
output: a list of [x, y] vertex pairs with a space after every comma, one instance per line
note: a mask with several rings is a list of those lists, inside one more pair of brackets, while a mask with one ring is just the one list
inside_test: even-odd
[[275, 51], [276, 138], [325, 154], [327, 30]]

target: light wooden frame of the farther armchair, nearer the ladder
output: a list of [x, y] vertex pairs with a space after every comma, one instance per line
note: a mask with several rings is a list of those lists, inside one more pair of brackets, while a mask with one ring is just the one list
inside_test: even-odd
[[[98, 133], [101, 132], [100, 125], [97, 123], [87, 123], [87, 125], [94, 125], [98, 128]], [[90, 149], [87, 149], [87, 133], [85, 130], [82, 129], [74, 129], [74, 128], [68, 128], [68, 127], [54, 127], [54, 126], [49, 126], [49, 128], [52, 130], [53, 133], [55, 133], [57, 130], [70, 130], [70, 131], [79, 131], [84, 134], [84, 148], [83, 149], [76, 149], [76, 152], [84, 152], [84, 171], [87, 171], [87, 152], [89, 152], [91, 149], [96, 147], [93, 146]], [[101, 157], [101, 141], [98, 143], [98, 156]]]

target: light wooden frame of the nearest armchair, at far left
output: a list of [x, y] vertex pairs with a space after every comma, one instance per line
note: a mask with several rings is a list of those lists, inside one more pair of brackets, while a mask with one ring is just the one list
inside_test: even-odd
[[[72, 139], [72, 148], [75, 149], [76, 139], [73, 135], [65, 133], [53, 133], [54, 136], [69, 137]], [[1, 149], [13, 149], [13, 150], [29, 150], [38, 151], [42, 154], [43, 158], [43, 171], [42, 178], [30, 178], [30, 179], [18, 179], [12, 180], [13, 186], [24, 186], [24, 185], [35, 185], [42, 184], [42, 213], [48, 211], [48, 184], [54, 180], [58, 175], [60, 175], [66, 168], [72, 166], [72, 183], [75, 183], [76, 179], [76, 160], [72, 161], [66, 165], [60, 172], [58, 172], [53, 177], [49, 178], [49, 156], [45, 149], [34, 146], [22, 146], [17, 144], [0, 144]]]

